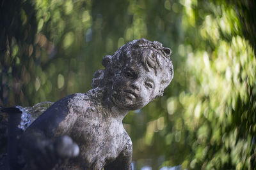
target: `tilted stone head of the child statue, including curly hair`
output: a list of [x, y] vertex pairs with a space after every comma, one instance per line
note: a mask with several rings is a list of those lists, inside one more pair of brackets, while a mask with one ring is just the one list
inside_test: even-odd
[[105, 69], [95, 72], [92, 87], [105, 87], [118, 108], [138, 110], [163, 96], [172, 81], [170, 54], [170, 48], [157, 41], [130, 41], [102, 59]]

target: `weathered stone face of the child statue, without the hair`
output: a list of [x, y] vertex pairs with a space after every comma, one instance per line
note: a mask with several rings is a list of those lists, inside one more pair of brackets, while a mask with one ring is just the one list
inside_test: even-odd
[[118, 108], [138, 110], [156, 96], [159, 77], [154, 69], [146, 71], [141, 64], [129, 65], [115, 74], [111, 98]]

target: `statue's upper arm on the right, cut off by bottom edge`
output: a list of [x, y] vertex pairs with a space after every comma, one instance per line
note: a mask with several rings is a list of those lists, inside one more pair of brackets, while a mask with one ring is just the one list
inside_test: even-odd
[[111, 163], [104, 167], [105, 170], [118, 169], [118, 170], [131, 170], [132, 169], [132, 143], [129, 142], [124, 146], [124, 150], [118, 157]]

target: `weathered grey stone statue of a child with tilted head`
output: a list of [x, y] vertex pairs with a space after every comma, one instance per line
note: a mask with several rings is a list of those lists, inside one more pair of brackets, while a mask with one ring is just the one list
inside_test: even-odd
[[92, 90], [60, 99], [22, 134], [25, 169], [131, 169], [132, 141], [122, 120], [163, 95], [173, 78], [170, 53], [138, 39], [106, 55]]

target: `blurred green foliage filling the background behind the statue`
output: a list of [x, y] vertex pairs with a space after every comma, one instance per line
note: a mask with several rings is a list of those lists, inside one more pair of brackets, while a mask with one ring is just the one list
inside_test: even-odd
[[86, 92], [104, 55], [132, 39], [157, 40], [172, 48], [175, 75], [163, 97], [124, 120], [136, 169], [255, 169], [255, 7], [249, 0], [3, 0], [0, 104]]

